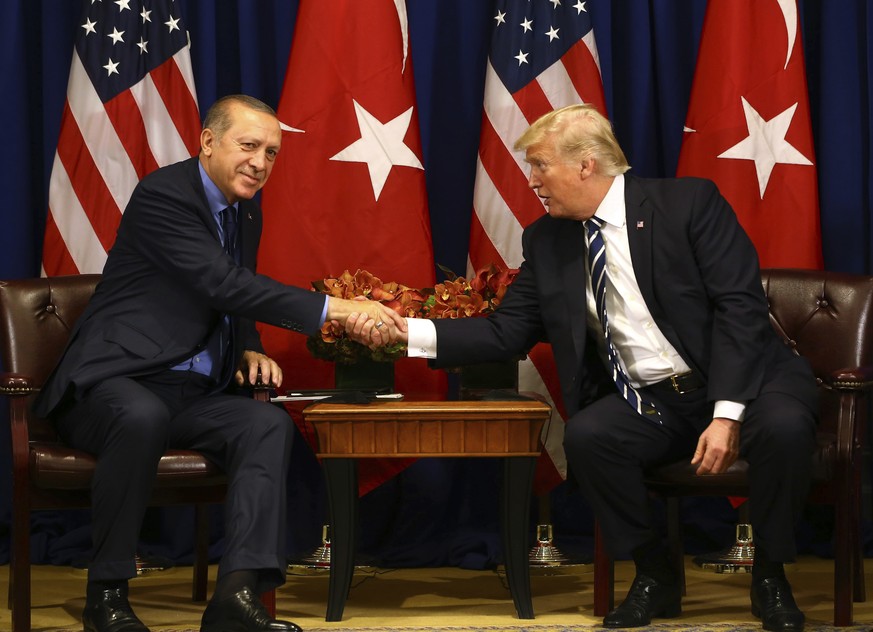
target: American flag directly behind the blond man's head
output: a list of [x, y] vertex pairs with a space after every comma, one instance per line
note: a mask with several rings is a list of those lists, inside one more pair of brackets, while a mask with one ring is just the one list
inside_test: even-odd
[[[515, 140], [543, 114], [572, 103], [606, 105], [591, 16], [582, 0], [500, 0], [494, 13], [485, 79], [482, 134], [476, 164], [471, 270], [488, 263], [521, 265], [521, 233], [544, 213], [527, 187]], [[559, 403], [551, 348], [539, 345], [519, 367], [519, 386]], [[547, 491], [566, 478], [563, 418], [553, 405], [543, 437], [544, 459], [536, 488]]]

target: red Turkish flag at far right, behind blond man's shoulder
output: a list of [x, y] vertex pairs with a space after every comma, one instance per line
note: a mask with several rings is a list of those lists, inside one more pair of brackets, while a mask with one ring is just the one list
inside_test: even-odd
[[716, 182], [762, 267], [821, 268], [795, 0], [710, 0], [676, 170]]

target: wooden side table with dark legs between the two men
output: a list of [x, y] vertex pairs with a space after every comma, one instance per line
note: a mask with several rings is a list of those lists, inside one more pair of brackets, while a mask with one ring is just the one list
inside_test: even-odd
[[528, 512], [540, 433], [550, 407], [538, 400], [313, 404], [303, 411], [318, 439], [331, 522], [327, 621], [341, 621], [352, 584], [358, 517], [357, 459], [502, 457], [501, 522], [509, 590], [519, 619], [533, 619]]

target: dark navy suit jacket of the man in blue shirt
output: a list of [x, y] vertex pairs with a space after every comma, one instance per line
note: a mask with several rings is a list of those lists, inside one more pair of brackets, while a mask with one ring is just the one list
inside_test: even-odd
[[[223, 314], [233, 316], [234, 367], [244, 350], [263, 351], [255, 321], [317, 331], [323, 296], [255, 274], [261, 226], [258, 205], [241, 201], [237, 265], [219, 240], [197, 158], [143, 178], [103, 278], [35, 403], [37, 414], [107, 377], [175, 366], [203, 348]], [[218, 388], [230, 377], [225, 371]]]

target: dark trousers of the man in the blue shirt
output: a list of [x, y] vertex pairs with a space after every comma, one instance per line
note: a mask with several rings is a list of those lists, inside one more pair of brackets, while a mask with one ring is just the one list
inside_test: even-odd
[[203, 452], [228, 476], [219, 577], [261, 571], [261, 584], [253, 587], [258, 591], [284, 582], [291, 419], [247, 397], [209, 395], [212, 384], [188, 371], [110, 378], [58, 418], [61, 437], [97, 457], [89, 580], [135, 576], [137, 542], [158, 461], [168, 448], [180, 448]]

